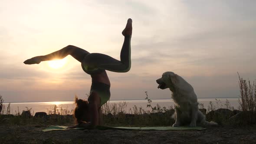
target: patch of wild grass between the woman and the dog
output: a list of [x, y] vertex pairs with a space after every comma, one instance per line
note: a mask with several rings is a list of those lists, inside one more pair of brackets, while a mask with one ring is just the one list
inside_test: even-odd
[[105, 125], [111, 126], [170, 126], [174, 123], [171, 115], [174, 114], [174, 109], [169, 109], [160, 105], [152, 107], [151, 99], [148, 98], [148, 92], [145, 92], [146, 100], [148, 101], [147, 107], [151, 111], [145, 111], [142, 107], [134, 105], [128, 111], [127, 102], [119, 102], [118, 104], [106, 103], [102, 106], [103, 121]]

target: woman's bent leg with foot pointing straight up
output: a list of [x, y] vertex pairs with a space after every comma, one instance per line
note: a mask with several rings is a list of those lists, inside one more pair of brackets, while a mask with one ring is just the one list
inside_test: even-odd
[[[128, 72], [131, 69], [131, 33], [132, 20], [128, 19], [122, 34], [125, 40], [120, 53], [120, 61], [101, 53], [91, 53], [85, 56], [82, 64], [83, 67], [92, 69], [105, 69], [112, 72]], [[86, 69], [90, 71], [90, 69]]]

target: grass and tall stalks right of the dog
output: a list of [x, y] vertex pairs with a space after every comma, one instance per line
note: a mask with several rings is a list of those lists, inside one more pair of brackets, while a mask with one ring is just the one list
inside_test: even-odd
[[[239, 88], [240, 88], [240, 98], [239, 98], [239, 110], [242, 111], [237, 115], [237, 111], [234, 111], [234, 108], [230, 106], [228, 100], [226, 100], [223, 105], [220, 100], [216, 99], [216, 105], [212, 101], [209, 102], [207, 112], [211, 115], [207, 117], [207, 120], [215, 121], [220, 125], [253, 125], [256, 124], [256, 81], [253, 83], [250, 80], [244, 80], [240, 77], [239, 73]], [[223, 111], [219, 108], [226, 108], [230, 111]], [[218, 111], [216, 111], [219, 109]], [[233, 116], [232, 116], [233, 115]], [[232, 117], [230, 117], [232, 116]]]

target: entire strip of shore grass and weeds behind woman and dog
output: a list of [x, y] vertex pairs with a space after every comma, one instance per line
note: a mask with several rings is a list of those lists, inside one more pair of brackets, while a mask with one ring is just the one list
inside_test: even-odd
[[[210, 101], [207, 107], [207, 121], [215, 121], [220, 125], [226, 124], [238, 124], [238, 125], [248, 125], [256, 124], [256, 82], [253, 81], [253, 84], [248, 80], [243, 80], [239, 77], [239, 86], [240, 86], [240, 111], [242, 113], [238, 115], [239, 117], [233, 120], [230, 120], [232, 115], [235, 115], [237, 111], [234, 111], [234, 108], [230, 105], [230, 102], [226, 99], [225, 103], [215, 99]], [[103, 112], [103, 121], [105, 125], [112, 126], [170, 126], [174, 123], [174, 120], [171, 119], [171, 116], [174, 114], [174, 108], [172, 106], [166, 108], [161, 108], [160, 105], [152, 106], [152, 100], [148, 96], [148, 92], [145, 92], [147, 103], [147, 108], [151, 108], [150, 111], [144, 110], [142, 107], [134, 105], [132, 108], [129, 108], [128, 103], [123, 101], [119, 103], [105, 103], [102, 106]], [[204, 109], [203, 104], [199, 104], [199, 108]], [[26, 125], [26, 124], [58, 124], [58, 125], [71, 125], [74, 124], [74, 119], [72, 117], [73, 110], [69, 111], [68, 108], [57, 108], [56, 105], [53, 105], [52, 108], [47, 110], [47, 118], [36, 118], [29, 117], [25, 118], [20, 114], [18, 108], [15, 111], [15, 116], [10, 115], [10, 103], [3, 105], [3, 98], [0, 95], [0, 121], [3, 121], [4, 124], [9, 125]], [[32, 108], [26, 108], [25, 111], [29, 111], [31, 115], [33, 114]], [[206, 111], [206, 110], [205, 110]]]

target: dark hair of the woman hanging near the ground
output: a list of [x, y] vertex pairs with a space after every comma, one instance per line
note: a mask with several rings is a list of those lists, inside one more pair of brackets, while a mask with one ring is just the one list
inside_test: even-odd
[[74, 110], [74, 118], [77, 123], [81, 123], [82, 121], [87, 121], [85, 118], [86, 110], [88, 109], [88, 101], [78, 99], [77, 96], [75, 96], [75, 110]]

